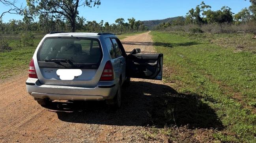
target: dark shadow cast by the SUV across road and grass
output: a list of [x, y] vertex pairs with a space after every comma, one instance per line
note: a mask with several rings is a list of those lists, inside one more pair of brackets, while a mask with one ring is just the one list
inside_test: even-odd
[[73, 123], [223, 127], [215, 111], [197, 95], [181, 94], [167, 85], [143, 81], [132, 81], [123, 92], [123, 103], [118, 110], [109, 108], [104, 101], [54, 101], [47, 108], [56, 112], [60, 120]]

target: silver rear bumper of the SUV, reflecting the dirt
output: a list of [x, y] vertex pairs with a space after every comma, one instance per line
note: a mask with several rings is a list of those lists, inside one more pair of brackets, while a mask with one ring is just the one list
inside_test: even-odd
[[[28, 78], [26, 87], [34, 98], [50, 100], [106, 100], [114, 98], [118, 87], [114, 81], [101, 81], [95, 87], [42, 85], [36, 78]], [[118, 82], [117, 82], [118, 83]]]

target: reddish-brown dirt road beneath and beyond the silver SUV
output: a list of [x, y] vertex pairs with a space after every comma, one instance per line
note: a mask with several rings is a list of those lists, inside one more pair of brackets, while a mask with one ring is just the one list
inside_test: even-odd
[[[126, 51], [155, 52], [149, 32], [122, 42]], [[26, 79], [24, 75], [0, 84], [0, 142], [148, 142], [145, 132], [157, 109], [152, 103], [173, 90], [162, 81], [131, 79], [119, 110], [97, 101], [54, 101], [44, 108], [26, 92]]]

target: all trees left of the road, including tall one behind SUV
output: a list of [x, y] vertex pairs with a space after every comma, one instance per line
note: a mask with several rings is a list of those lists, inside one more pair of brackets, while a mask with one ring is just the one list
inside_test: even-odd
[[[27, 0], [26, 7], [17, 7], [15, 0], [0, 0], [0, 3], [10, 7], [0, 15], [0, 30], [5, 32], [38, 31], [49, 33], [51, 31], [87, 31], [87, 32], [113, 32], [122, 34], [127, 31], [144, 31], [147, 27], [140, 20], [128, 18], [116, 19], [115, 24], [101, 20], [86, 21], [80, 17], [78, 7], [99, 7], [100, 0]], [[2, 22], [5, 13], [21, 14], [22, 20], [9, 20]], [[38, 18], [35, 21], [34, 18]]]

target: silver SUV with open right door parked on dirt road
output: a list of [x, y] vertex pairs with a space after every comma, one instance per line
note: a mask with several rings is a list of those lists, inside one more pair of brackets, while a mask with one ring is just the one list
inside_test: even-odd
[[52, 32], [29, 65], [27, 91], [40, 105], [52, 100], [106, 100], [121, 106], [130, 78], [162, 80], [163, 54], [126, 54], [111, 33]]

